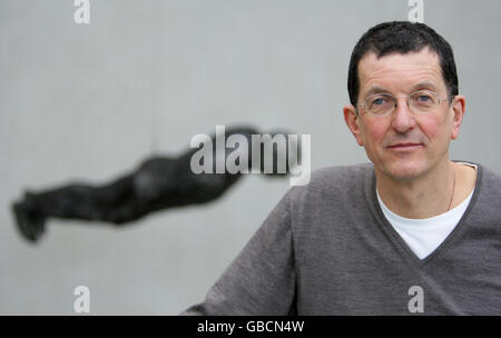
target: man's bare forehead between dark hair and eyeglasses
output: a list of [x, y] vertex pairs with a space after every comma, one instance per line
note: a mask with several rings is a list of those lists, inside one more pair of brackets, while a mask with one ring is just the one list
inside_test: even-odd
[[396, 82], [443, 82], [439, 56], [428, 48], [418, 52], [390, 53], [377, 58], [375, 52], [366, 53], [358, 63], [361, 89], [371, 86], [386, 86]]

